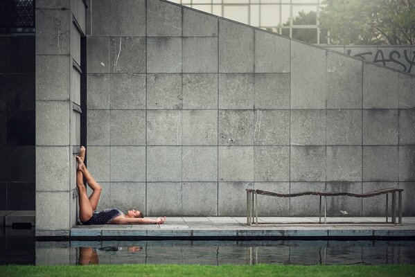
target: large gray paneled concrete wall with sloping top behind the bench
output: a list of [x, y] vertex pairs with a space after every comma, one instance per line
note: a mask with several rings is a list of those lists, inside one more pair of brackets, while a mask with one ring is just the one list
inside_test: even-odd
[[[98, 208], [245, 215], [245, 188], [405, 189], [415, 215], [415, 78], [159, 0], [91, 1], [87, 158]], [[384, 197], [329, 215], [384, 215]], [[317, 197], [261, 215], [318, 215]]]

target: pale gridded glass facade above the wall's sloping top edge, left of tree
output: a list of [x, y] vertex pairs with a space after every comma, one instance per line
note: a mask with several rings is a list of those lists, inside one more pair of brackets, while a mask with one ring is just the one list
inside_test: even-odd
[[322, 0], [171, 0], [312, 44], [326, 44], [319, 31]]

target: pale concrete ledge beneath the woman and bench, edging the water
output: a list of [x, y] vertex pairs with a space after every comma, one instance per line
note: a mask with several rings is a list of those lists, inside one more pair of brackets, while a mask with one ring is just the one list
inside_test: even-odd
[[182, 238], [298, 238], [298, 237], [415, 237], [415, 217], [390, 224], [385, 217], [258, 217], [247, 225], [246, 217], [168, 217], [161, 225], [77, 225], [71, 237]]

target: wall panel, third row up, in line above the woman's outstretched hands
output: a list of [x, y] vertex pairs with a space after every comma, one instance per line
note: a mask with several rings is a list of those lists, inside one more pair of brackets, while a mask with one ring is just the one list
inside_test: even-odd
[[147, 145], [181, 145], [182, 111], [148, 110]]

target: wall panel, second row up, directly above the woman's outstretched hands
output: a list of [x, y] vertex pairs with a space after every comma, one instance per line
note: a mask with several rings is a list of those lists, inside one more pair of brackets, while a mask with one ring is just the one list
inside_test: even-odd
[[182, 146], [148, 146], [147, 181], [182, 181]]

